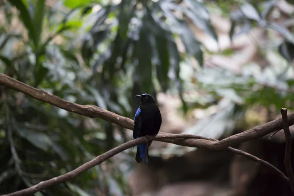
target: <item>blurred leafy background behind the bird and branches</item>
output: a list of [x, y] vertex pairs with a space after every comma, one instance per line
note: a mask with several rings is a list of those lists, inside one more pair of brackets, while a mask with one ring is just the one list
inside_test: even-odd
[[[294, 107], [293, 0], [0, 0], [0, 73], [133, 119], [154, 96], [161, 131], [216, 139]], [[291, 131], [292, 130], [292, 127]], [[285, 173], [285, 138], [239, 149]], [[132, 131], [0, 86], [0, 193], [72, 171]], [[289, 196], [276, 174], [226, 150], [153, 142], [35, 196]], [[294, 163], [294, 160], [292, 161]]]

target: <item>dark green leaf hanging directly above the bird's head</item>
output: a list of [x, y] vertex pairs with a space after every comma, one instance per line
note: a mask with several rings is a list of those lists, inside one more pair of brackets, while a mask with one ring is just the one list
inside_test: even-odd
[[141, 91], [146, 93], [152, 92], [152, 48], [149, 37], [150, 33], [147, 26], [143, 25], [140, 30], [140, 38], [134, 48], [135, 56], [139, 63], [134, 74], [138, 78]]

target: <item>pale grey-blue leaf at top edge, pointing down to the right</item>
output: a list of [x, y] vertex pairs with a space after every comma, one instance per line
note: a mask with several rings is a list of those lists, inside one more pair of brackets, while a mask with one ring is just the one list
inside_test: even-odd
[[197, 0], [185, 0], [185, 3], [187, 3], [188, 9], [185, 9], [184, 13], [191, 19], [194, 25], [217, 42], [218, 36], [210, 23], [210, 15], [206, 6]]

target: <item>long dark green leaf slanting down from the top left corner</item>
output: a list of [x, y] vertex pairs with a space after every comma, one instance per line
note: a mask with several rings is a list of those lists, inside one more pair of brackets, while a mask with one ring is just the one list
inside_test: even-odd
[[33, 25], [33, 21], [27, 9], [27, 3], [25, 3], [26, 1], [25, 0], [9, 0], [9, 2], [13, 4], [20, 11], [21, 19], [28, 30], [28, 36], [30, 40], [33, 41], [34, 45], [37, 46], [36, 32]]

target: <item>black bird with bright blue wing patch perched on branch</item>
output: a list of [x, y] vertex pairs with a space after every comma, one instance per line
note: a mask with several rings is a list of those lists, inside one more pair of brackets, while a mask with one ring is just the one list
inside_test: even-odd
[[[133, 138], [140, 138], [142, 136], [156, 136], [159, 132], [162, 119], [160, 110], [155, 102], [155, 99], [149, 94], [136, 95], [135, 97], [141, 99], [141, 105], [138, 107], [134, 118], [134, 132]], [[146, 144], [139, 144], [137, 146], [136, 161], [137, 163], [148, 164], [149, 154], [148, 147], [152, 141]]]

